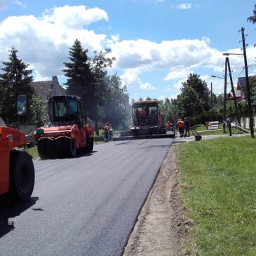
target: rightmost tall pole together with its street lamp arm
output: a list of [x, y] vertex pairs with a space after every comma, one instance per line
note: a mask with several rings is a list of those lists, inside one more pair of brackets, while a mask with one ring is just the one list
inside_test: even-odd
[[[243, 28], [242, 28], [243, 29]], [[249, 115], [249, 122], [250, 122], [250, 135], [254, 137], [254, 130], [253, 130], [253, 120], [252, 120], [252, 105], [250, 101], [250, 83], [248, 77], [248, 65], [247, 65], [247, 58], [246, 58], [246, 51], [245, 51], [245, 39], [243, 36], [243, 53], [223, 53], [225, 56], [229, 55], [243, 55], [243, 59], [245, 62], [245, 79], [246, 79], [246, 87], [247, 87], [247, 99], [248, 99], [248, 115]]]

